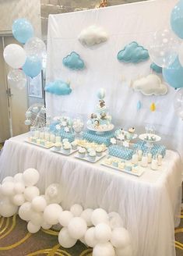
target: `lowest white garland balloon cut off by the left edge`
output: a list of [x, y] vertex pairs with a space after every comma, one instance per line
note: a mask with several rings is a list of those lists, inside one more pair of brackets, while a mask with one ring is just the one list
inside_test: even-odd
[[18, 211], [18, 206], [12, 204], [8, 197], [3, 197], [0, 201], [0, 215], [5, 218], [11, 217]]

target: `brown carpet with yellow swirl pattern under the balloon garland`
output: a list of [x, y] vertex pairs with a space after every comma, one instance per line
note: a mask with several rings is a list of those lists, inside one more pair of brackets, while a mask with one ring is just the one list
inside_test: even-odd
[[[175, 229], [175, 246], [177, 256], [183, 255], [183, 210], [181, 226]], [[26, 222], [18, 215], [12, 218], [0, 218], [0, 255], [1, 256], [92, 256], [92, 249], [77, 243], [71, 249], [64, 249], [58, 244], [58, 232], [52, 229], [41, 229], [36, 234], [30, 234]]]

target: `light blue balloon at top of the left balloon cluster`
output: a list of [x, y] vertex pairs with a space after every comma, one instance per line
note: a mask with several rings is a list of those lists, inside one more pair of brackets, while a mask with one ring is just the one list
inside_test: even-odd
[[25, 44], [30, 37], [33, 37], [33, 26], [29, 20], [17, 19], [12, 24], [12, 34], [19, 43]]

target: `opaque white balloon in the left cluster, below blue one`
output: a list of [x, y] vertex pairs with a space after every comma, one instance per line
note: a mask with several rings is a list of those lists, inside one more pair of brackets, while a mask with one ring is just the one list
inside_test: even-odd
[[19, 44], [9, 44], [3, 52], [5, 62], [13, 69], [21, 68], [26, 62], [26, 52]]

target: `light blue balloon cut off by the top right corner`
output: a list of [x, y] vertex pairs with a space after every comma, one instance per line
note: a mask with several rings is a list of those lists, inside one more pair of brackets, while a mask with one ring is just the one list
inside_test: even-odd
[[171, 12], [171, 29], [183, 39], [183, 0], [179, 1]]

